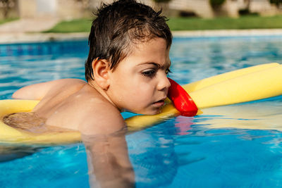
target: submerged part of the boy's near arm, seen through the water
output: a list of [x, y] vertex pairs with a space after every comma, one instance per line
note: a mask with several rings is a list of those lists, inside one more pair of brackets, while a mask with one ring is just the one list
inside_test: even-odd
[[110, 135], [82, 135], [87, 152], [91, 187], [135, 187], [128, 158], [127, 130]]

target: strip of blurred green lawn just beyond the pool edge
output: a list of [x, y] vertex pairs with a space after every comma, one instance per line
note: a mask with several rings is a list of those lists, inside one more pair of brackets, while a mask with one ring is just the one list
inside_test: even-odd
[[[171, 30], [247, 30], [282, 28], [282, 15], [261, 17], [245, 15], [240, 18], [169, 18]], [[82, 18], [63, 21], [47, 32], [90, 32], [91, 20]]]

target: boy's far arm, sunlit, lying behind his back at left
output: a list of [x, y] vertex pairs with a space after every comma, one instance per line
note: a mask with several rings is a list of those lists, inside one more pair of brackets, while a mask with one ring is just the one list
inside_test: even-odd
[[74, 82], [84, 82], [79, 79], [61, 79], [50, 82], [42, 82], [39, 84], [32, 84], [18, 89], [12, 95], [13, 99], [32, 99], [41, 100], [51, 88], [60, 87], [64, 84], [73, 84]]

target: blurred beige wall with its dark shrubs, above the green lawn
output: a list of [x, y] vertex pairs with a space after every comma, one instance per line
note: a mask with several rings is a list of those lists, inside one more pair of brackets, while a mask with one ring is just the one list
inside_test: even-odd
[[[51, 16], [60, 19], [83, 18], [102, 2], [112, 0], [1, 0], [1, 19]], [[276, 15], [282, 12], [281, 0], [142, 0], [163, 8], [168, 16], [214, 18], [244, 14]]]

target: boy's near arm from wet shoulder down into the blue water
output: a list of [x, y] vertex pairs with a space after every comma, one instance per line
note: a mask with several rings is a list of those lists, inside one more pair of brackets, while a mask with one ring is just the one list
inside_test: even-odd
[[[91, 100], [85, 110], [90, 111], [90, 106]], [[80, 126], [87, 151], [90, 187], [135, 187], [123, 117], [112, 105], [101, 103], [96, 108], [99, 110], [93, 109], [87, 114]]]

